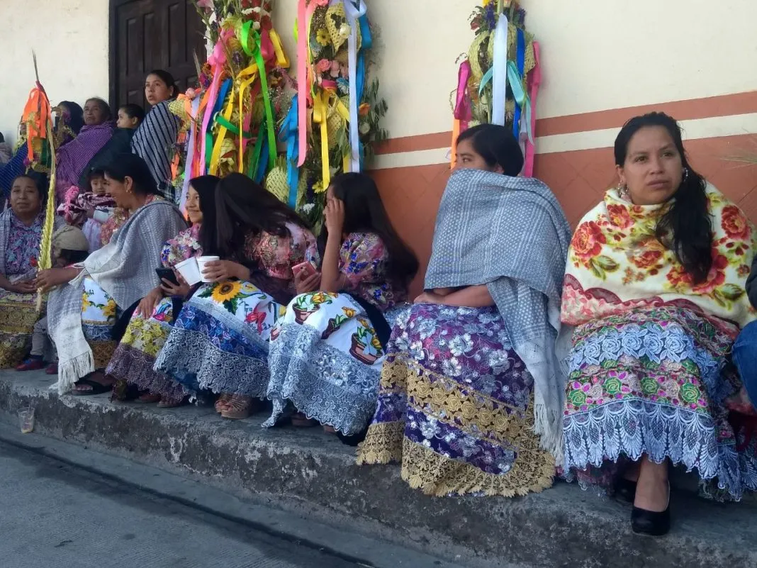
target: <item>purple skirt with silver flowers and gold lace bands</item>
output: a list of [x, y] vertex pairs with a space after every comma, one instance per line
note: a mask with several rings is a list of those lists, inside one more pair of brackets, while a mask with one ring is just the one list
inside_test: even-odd
[[534, 380], [494, 307], [414, 304], [392, 330], [357, 463], [402, 463], [427, 495], [512, 497], [550, 487]]

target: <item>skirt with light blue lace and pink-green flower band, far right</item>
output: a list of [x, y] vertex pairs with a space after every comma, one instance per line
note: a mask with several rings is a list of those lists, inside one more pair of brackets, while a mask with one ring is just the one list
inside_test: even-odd
[[704, 495], [757, 489], [754, 444], [728, 422], [740, 387], [728, 364], [738, 329], [681, 307], [643, 307], [575, 329], [566, 389], [565, 473], [612, 487], [642, 454], [696, 470]]

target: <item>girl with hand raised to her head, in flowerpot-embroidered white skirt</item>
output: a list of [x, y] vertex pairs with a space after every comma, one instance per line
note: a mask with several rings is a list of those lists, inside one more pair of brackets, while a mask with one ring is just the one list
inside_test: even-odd
[[385, 314], [406, 300], [418, 261], [391, 226], [369, 176], [337, 176], [327, 200], [322, 273], [295, 275], [304, 279], [298, 292], [310, 293], [291, 301], [271, 334], [266, 396], [273, 416], [266, 426], [291, 401], [295, 425], [317, 421], [351, 436], [373, 416], [391, 333]]

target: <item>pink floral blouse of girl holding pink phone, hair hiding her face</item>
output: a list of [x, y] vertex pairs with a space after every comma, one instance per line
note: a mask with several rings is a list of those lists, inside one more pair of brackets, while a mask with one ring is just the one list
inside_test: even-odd
[[244, 254], [266, 276], [288, 282], [294, 292], [292, 267], [304, 261], [319, 264], [320, 256], [313, 233], [293, 223], [286, 223], [285, 226], [290, 236], [280, 237], [265, 232], [248, 235]]

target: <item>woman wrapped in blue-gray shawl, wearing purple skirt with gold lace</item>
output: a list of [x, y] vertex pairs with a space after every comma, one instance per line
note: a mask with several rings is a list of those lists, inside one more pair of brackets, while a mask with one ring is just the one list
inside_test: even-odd
[[570, 229], [550, 189], [516, 177], [503, 126], [458, 140], [426, 292], [397, 321], [358, 463], [402, 462], [428, 495], [550, 487], [562, 449], [556, 364]]

